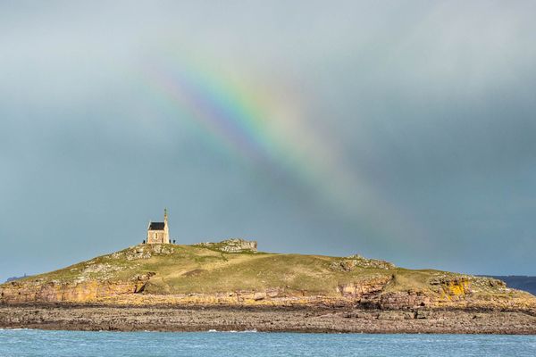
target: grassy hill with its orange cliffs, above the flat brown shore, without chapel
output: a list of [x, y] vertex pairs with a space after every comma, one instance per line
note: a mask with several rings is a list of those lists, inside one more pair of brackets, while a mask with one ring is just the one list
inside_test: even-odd
[[406, 270], [357, 255], [342, 258], [262, 253], [250, 249], [250, 245], [236, 249], [240, 244], [224, 241], [210, 245], [136, 245], [62, 270], [6, 283], [0, 286], [2, 301], [342, 301], [404, 308], [514, 307], [531, 305], [535, 300], [494, 278]]

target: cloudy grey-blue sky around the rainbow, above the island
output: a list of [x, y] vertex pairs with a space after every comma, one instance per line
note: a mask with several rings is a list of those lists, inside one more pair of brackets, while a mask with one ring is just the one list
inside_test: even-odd
[[[163, 207], [185, 244], [536, 274], [536, 3], [216, 3], [0, 2], [0, 280], [137, 244]], [[248, 159], [155, 63], [301, 126]]]

